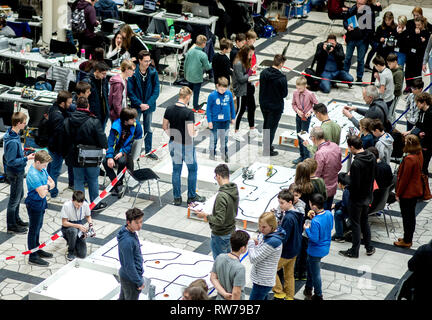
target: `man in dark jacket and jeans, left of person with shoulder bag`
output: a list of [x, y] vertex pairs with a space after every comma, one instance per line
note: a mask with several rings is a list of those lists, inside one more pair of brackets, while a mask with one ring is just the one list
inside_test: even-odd
[[49, 109], [48, 121], [48, 151], [52, 161], [48, 164], [47, 172], [53, 179], [55, 187], [50, 190], [51, 198], [58, 195], [57, 179], [60, 175], [64, 154], [64, 120], [69, 116], [68, 109], [72, 104], [72, 94], [68, 91], [60, 91], [57, 101]]

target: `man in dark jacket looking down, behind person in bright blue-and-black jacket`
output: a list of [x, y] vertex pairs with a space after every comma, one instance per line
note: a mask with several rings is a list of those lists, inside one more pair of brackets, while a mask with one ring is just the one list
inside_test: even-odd
[[88, 97], [90, 112], [100, 120], [104, 131], [109, 118], [108, 80], [106, 79], [108, 70], [109, 67], [105, 62], [97, 62], [93, 72], [83, 80], [91, 85], [91, 93]]

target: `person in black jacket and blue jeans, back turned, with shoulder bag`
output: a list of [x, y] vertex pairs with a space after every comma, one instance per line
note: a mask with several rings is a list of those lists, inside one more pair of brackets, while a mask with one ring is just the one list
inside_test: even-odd
[[[99, 165], [82, 166], [78, 162], [78, 145], [89, 145], [95, 148], [107, 149], [108, 141], [102, 129], [100, 120], [90, 112], [88, 100], [78, 98], [77, 109], [65, 120], [65, 144], [71, 146], [66, 159], [67, 165], [73, 166], [74, 188], [85, 192], [84, 181], [88, 183], [90, 203], [99, 194]], [[105, 202], [100, 202], [93, 211], [104, 209]]]

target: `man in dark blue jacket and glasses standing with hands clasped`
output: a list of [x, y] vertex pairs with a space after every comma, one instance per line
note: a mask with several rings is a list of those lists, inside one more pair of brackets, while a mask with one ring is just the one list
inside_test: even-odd
[[[138, 68], [135, 74], [129, 78], [127, 93], [131, 101], [131, 107], [138, 111], [138, 120], [143, 115], [145, 153], [152, 150], [151, 122], [153, 112], [156, 110], [156, 100], [159, 97], [159, 75], [155, 68], [150, 66], [150, 52], [141, 50], [138, 53]], [[158, 160], [154, 153], [147, 155], [150, 159]]]

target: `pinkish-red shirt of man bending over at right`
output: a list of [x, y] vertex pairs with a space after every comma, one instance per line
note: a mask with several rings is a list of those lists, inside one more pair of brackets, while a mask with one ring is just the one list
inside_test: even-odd
[[318, 163], [315, 176], [323, 178], [327, 197], [336, 194], [338, 173], [342, 169], [341, 158], [342, 154], [339, 146], [330, 141], [321, 143], [315, 153], [315, 160]]

